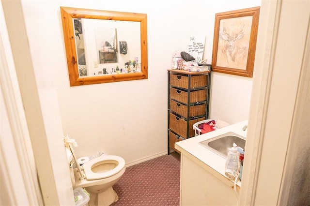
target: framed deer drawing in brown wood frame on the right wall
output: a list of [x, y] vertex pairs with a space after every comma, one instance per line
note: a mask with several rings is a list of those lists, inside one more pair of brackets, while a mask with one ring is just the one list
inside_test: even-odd
[[260, 7], [215, 15], [212, 71], [253, 76]]

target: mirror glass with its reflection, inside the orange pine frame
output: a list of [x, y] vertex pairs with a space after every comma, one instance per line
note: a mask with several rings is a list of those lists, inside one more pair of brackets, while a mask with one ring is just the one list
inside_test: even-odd
[[[141, 72], [139, 22], [82, 18], [79, 25], [77, 20], [74, 27], [79, 76]], [[78, 32], [80, 27], [83, 34]]]

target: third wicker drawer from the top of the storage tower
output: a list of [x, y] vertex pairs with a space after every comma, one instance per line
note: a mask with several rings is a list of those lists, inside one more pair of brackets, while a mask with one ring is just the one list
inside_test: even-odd
[[[187, 106], [184, 104], [170, 100], [170, 109], [183, 117], [187, 117]], [[201, 103], [198, 105], [190, 105], [189, 117], [198, 117], [205, 115], [206, 113], [205, 109], [206, 109], [205, 103]]]

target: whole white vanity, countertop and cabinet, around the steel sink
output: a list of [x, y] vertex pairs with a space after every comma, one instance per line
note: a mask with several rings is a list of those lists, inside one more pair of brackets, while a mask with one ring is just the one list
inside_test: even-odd
[[[245, 120], [175, 143], [175, 148], [181, 152], [181, 206], [238, 204], [234, 182], [224, 174], [226, 159], [199, 143], [227, 132], [246, 137], [247, 131], [243, 128], [247, 124], [248, 120]], [[240, 187], [241, 181], [238, 179], [238, 196]]]

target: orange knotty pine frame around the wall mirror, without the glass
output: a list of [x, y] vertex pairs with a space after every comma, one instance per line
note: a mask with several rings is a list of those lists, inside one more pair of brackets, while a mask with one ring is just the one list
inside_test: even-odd
[[[70, 86], [148, 79], [147, 14], [60, 7]], [[79, 73], [73, 19], [96, 19], [140, 23], [140, 72], [83, 76]], [[84, 32], [83, 32], [84, 33]]]

